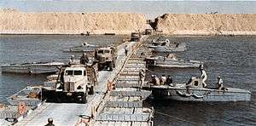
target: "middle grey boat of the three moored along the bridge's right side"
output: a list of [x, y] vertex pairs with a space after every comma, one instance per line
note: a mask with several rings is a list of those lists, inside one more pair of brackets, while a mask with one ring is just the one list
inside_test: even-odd
[[147, 67], [169, 67], [169, 68], [198, 68], [203, 64], [198, 60], [179, 60], [174, 54], [170, 56], [147, 57]]

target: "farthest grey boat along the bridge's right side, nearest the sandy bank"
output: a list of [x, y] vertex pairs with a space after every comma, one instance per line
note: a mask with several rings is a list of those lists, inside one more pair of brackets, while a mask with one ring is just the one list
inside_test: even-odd
[[152, 45], [149, 45], [148, 48], [158, 53], [183, 52], [186, 50], [186, 44], [170, 42], [169, 39], [164, 41], [153, 40]]

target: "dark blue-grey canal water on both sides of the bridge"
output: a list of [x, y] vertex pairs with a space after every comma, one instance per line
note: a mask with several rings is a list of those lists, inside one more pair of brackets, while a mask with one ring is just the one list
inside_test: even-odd
[[[34, 61], [67, 61], [70, 53], [61, 49], [92, 44], [117, 45], [123, 36], [79, 35], [1, 35], [0, 64]], [[166, 37], [187, 44], [187, 51], [177, 53], [184, 60], [205, 63], [209, 86], [218, 76], [224, 86], [252, 92], [250, 102], [197, 103], [172, 100], [148, 100], [154, 106], [155, 125], [256, 125], [256, 37]], [[80, 54], [75, 54], [78, 57]], [[157, 75], [171, 75], [175, 83], [185, 83], [197, 77], [197, 69], [153, 69]], [[147, 73], [149, 77], [151, 72]], [[44, 82], [47, 75], [0, 73], [0, 100], [23, 89], [28, 84]]]

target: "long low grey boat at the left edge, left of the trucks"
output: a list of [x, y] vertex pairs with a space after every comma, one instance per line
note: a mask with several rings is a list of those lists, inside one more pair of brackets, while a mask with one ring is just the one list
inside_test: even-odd
[[58, 72], [58, 66], [63, 66], [62, 62], [33, 62], [23, 64], [10, 64], [1, 66], [2, 72], [42, 74]]

